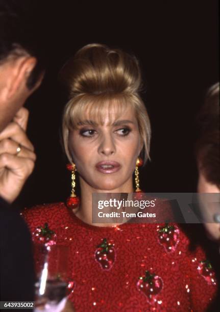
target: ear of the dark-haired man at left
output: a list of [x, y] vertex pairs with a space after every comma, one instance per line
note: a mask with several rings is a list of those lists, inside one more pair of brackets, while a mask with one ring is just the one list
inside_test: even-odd
[[32, 70], [37, 63], [37, 59], [34, 57], [20, 57], [14, 60], [10, 66], [12, 66], [11, 76], [8, 80], [8, 92], [7, 98], [10, 99], [14, 95], [20, 92], [29, 92], [27, 87], [27, 80]]

